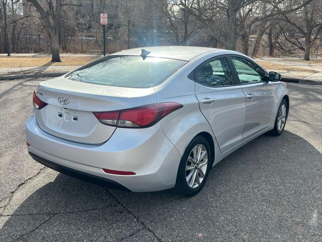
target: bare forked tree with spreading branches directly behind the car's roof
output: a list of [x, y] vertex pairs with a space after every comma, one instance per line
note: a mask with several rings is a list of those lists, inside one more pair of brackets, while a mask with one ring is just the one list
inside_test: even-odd
[[[194, 0], [191, 8], [188, 8], [183, 0], [180, 0], [180, 4], [204, 27], [214, 32], [222, 32], [224, 38], [218, 41], [225, 48], [235, 50], [237, 39], [247, 33], [255, 23], [268, 21], [281, 14], [292, 13], [312, 1], [286, 4], [283, 0], [265, 0], [270, 9], [265, 15], [256, 15], [253, 12], [253, 7], [262, 3], [255, 0]], [[241, 10], [244, 14], [239, 16], [242, 20], [238, 22], [238, 13]], [[250, 16], [252, 16], [251, 19], [249, 19]]]

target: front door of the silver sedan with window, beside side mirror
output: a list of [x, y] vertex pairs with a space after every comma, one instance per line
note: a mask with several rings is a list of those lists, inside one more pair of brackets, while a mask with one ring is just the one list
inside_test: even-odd
[[268, 82], [265, 71], [251, 59], [239, 55], [230, 55], [230, 59], [246, 96], [245, 140], [272, 125], [278, 85]]

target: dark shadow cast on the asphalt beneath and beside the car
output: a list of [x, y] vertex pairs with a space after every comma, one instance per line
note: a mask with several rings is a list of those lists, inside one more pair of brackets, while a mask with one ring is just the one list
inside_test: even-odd
[[110, 190], [46, 168], [3, 212], [12, 216], [0, 238], [117, 241], [148, 228], [172, 241], [318, 241], [321, 177], [321, 153], [288, 131], [226, 157], [191, 198]]

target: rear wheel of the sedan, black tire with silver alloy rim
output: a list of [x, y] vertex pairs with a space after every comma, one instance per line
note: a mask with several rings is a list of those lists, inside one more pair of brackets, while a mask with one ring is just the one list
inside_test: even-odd
[[[200, 157], [202, 156], [200, 159], [198, 159], [199, 149]], [[181, 158], [174, 191], [187, 197], [196, 195], [207, 180], [211, 157], [207, 139], [203, 136], [193, 138]], [[193, 180], [194, 178], [195, 180]]]

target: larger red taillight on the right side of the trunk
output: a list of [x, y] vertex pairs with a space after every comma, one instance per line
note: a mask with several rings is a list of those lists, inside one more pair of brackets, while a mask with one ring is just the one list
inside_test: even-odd
[[121, 128], [146, 128], [182, 107], [182, 104], [176, 102], [163, 102], [118, 111], [93, 113], [104, 125]]

